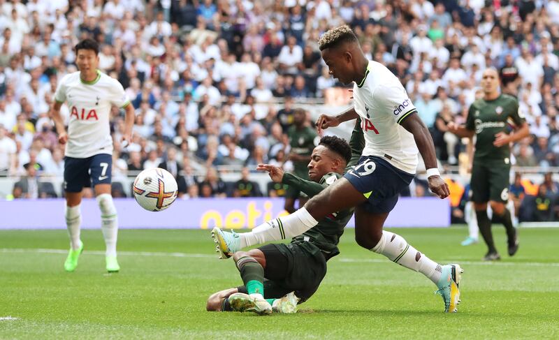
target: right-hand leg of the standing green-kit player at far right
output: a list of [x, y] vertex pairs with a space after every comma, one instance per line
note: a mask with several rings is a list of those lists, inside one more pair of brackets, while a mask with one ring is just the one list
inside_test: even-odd
[[509, 170], [508, 166], [491, 168], [489, 205], [495, 221], [502, 223], [507, 230], [508, 252], [509, 256], [513, 256], [518, 251], [518, 237], [516, 228], [512, 225], [511, 212], [506, 206], [509, 201]]

